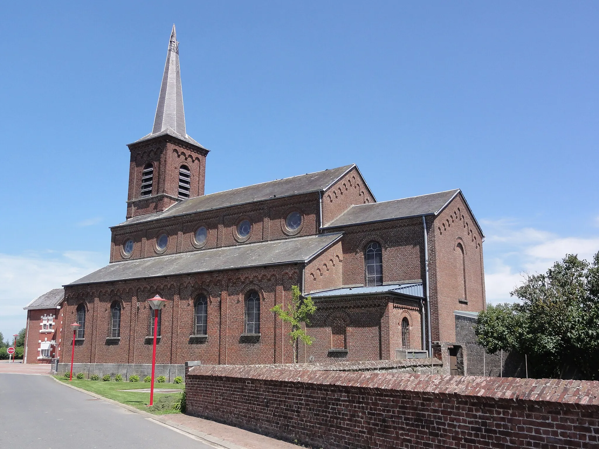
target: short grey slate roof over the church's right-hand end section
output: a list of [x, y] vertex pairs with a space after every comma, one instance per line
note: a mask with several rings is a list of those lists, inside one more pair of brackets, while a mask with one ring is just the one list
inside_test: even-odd
[[422, 215], [436, 215], [459, 193], [459, 189], [429, 195], [412, 196], [380, 203], [359, 204], [350, 207], [325, 227], [358, 225], [360, 223], [383, 222], [406, 219]]

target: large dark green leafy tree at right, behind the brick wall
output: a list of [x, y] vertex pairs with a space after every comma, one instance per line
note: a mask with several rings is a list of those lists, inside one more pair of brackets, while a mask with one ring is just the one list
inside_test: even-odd
[[591, 263], [568, 254], [510, 295], [520, 301], [479, 314], [474, 331], [489, 353], [527, 354], [535, 377], [599, 380], [599, 253]]

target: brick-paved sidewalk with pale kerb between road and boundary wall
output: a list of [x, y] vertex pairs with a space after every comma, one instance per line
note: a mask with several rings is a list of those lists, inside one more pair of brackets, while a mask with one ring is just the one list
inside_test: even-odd
[[[27, 366], [27, 365], [25, 365]], [[104, 398], [104, 396], [96, 395], [95, 393], [79, 389], [69, 384], [60, 382], [52, 377], [53, 380], [66, 387], [78, 390], [93, 396], [94, 398], [102, 399], [102, 401], [110, 402], [126, 408], [129, 411], [139, 413], [147, 419], [158, 421], [158, 423], [171, 427], [175, 431], [187, 433], [200, 439], [205, 444], [209, 444], [215, 448], [225, 449], [298, 449], [300, 446], [291, 444], [279, 439], [269, 438], [268, 436], [260, 435], [259, 433], [249, 432], [249, 430], [239, 429], [238, 427], [220, 424], [215, 421], [204, 420], [184, 414], [172, 415], [153, 415], [143, 410], [131, 407], [129, 405], [120, 404], [120, 402], [112, 399]]]

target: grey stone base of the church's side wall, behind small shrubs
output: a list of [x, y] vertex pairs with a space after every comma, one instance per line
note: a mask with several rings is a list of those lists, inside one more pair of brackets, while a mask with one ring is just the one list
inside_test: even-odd
[[[70, 363], [59, 363], [58, 374], [64, 374], [71, 370]], [[73, 375], [83, 372], [86, 379], [92, 374], [97, 374], [102, 377], [110, 374], [114, 378], [117, 374], [123, 376], [124, 381], [128, 381], [129, 377], [137, 374], [140, 381], [143, 382], [144, 377], [152, 375], [151, 363], [73, 363]], [[156, 365], [155, 377], [164, 376], [167, 382], [173, 382], [177, 376], [185, 376], [184, 365]]]

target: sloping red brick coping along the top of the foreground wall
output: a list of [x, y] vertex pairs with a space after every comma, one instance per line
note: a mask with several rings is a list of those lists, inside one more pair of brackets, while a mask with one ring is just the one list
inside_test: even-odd
[[599, 381], [315, 371], [243, 365], [200, 365], [191, 368], [189, 375], [599, 406]]

